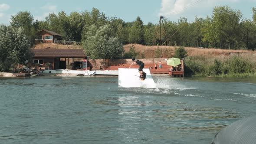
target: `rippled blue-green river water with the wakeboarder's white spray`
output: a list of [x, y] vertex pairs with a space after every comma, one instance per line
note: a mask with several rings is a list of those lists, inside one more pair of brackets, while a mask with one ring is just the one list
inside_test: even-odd
[[154, 76], [158, 88], [118, 77], [0, 78], [1, 144], [210, 144], [256, 115], [256, 79]]

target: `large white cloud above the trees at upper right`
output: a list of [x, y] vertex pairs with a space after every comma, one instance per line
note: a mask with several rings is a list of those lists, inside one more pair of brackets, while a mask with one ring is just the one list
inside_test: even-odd
[[[244, 3], [252, 3], [256, 0], [161, 0], [158, 16], [164, 16], [168, 20], [177, 21], [181, 17], [193, 22], [195, 16], [211, 16], [213, 8], [217, 6], [238, 6]], [[242, 9], [243, 8], [238, 8]], [[247, 16], [248, 17], [248, 16]]]

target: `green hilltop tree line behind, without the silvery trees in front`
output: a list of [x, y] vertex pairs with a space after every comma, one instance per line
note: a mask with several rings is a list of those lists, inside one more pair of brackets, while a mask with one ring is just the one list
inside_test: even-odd
[[[186, 47], [205, 47], [220, 49], [256, 49], [256, 7], [252, 8], [252, 20], [244, 19], [240, 10], [230, 7], [213, 8], [212, 16], [200, 18], [195, 16], [193, 22], [181, 17], [177, 22], [164, 18], [164, 30], [168, 45]], [[50, 13], [45, 20], [34, 20], [30, 12], [23, 11], [11, 16], [10, 26], [23, 27], [25, 34], [33, 41], [33, 36], [40, 29], [47, 29], [62, 35], [63, 39], [76, 42], [84, 41], [94, 25], [100, 28], [108, 24], [112, 36], [122, 44], [136, 43], [151, 46], [156, 39], [158, 24], [144, 24], [138, 16], [132, 22], [116, 17], [107, 17], [98, 9], [91, 12], [72, 12], [67, 15], [64, 11], [58, 14]], [[175, 33], [175, 34], [174, 34]], [[161, 31], [164, 35], [164, 31]], [[173, 35], [174, 34], [174, 35]], [[173, 36], [172, 36], [173, 35]], [[159, 40], [159, 39], [158, 39]]]

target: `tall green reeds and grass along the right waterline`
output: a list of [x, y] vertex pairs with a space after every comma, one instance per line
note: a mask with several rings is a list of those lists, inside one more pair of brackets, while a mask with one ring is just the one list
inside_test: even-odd
[[187, 76], [256, 77], [253, 53], [220, 56], [188, 56], [184, 59]]

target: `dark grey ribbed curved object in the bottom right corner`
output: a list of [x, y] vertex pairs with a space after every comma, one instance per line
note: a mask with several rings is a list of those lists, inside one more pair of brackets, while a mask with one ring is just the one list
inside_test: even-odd
[[219, 131], [211, 144], [256, 144], [256, 116], [236, 121]]

